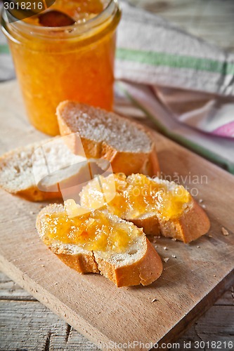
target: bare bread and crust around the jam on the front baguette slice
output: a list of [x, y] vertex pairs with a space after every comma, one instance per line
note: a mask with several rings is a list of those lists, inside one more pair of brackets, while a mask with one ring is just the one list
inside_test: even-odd
[[[64, 244], [58, 239], [48, 239], [44, 228], [46, 221], [48, 221], [48, 215], [51, 213], [65, 213], [63, 205], [49, 205], [39, 212], [36, 223], [39, 236], [63, 263], [77, 272], [103, 274], [119, 287], [148, 285], [160, 277], [162, 260], [143, 234], [143, 230], [137, 228], [138, 237], [124, 253], [89, 251], [78, 244]], [[89, 213], [88, 216], [92, 216], [92, 213]], [[129, 232], [133, 228], [136, 229], [134, 224], [117, 216], [112, 216], [109, 213], [105, 213], [105, 216], [110, 220], [110, 223], [118, 223], [118, 225], [124, 223], [125, 227], [127, 225], [129, 228]]]

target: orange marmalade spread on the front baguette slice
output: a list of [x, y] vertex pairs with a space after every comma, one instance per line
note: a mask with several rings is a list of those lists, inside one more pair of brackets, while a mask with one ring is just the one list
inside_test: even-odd
[[41, 220], [43, 240], [48, 246], [57, 242], [76, 244], [89, 251], [124, 253], [142, 235], [132, 223], [117, 222], [101, 211], [70, 217], [66, 211], [44, 215]]

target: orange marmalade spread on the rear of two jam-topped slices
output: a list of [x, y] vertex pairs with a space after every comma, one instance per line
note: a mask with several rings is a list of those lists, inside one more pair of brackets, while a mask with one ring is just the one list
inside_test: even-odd
[[[83, 188], [80, 194], [82, 206], [100, 208], [103, 204], [100, 201], [102, 197], [110, 198], [109, 177], [99, 176], [99, 180], [94, 178]], [[143, 174], [132, 174], [128, 177], [123, 173], [115, 174], [115, 187], [115, 197], [105, 207], [110, 213], [126, 220], [155, 212], [164, 220], [177, 218], [186, 210], [192, 199], [182, 185], [159, 178], [154, 180]]]

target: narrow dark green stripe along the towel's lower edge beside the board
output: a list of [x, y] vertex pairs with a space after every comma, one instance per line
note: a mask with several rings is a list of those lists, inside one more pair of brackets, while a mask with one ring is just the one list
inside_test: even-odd
[[214, 162], [214, 164], [221, 166], [223, 169], [226, 169], [226, 171], [234, 174], [234, 164], [232, 162], [220, 157], [218, 154], [210, 150], [207, 150], [205, 147], [202, 147], [201, 145], [197, 145], [193, 141], [186, 139], [180, 134], [169, 131], [169, 129], [167, 129], [160, 121], [155, 119], [155, 117], [152, 116], [152, 114], [150, 114], [150, 112], [146, 110], [145, 107], [143, 107], [140, 102], [138, 102], [135, 98], [133, 98], [133, 96], [131, 96], [131, 94], [129, 94], [129, 92], [126, 91], [120, 84], [119, 84], [119, 88], [131, 100], [131, 102], [133, 102], [134, 105], [136, 105], [140, 110], [142, 110], [145, 113], [145, 115], [150, 119], [150, 121], [152, 121], [153, 124], [155, 124], [157, 131], [167, 136], [167, 138], [174, 140], [176, 143], [183, 145], [184, 147], [188, 147], [188, 149], [196, 152], [197, 154], [200, 154], [202, 157], [205, 157], [206, 159], [209, 159], [209, 161], [212, 161]]

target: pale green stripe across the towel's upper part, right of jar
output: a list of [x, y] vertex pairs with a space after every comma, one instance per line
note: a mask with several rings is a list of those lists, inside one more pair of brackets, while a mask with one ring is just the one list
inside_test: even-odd
[[139, 51], [128, 48], [118, 48], [116, 57], [119, 60], [127, 60], [145, 63], [152, 66], [166, 66], [174, 68], [195, 69], [219, 74], [234, 74], [234, 63], [226, 63], [205, 58], [192, 56], [174, 55], [169, 53], [157, 53], [155, 51]]

